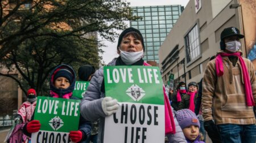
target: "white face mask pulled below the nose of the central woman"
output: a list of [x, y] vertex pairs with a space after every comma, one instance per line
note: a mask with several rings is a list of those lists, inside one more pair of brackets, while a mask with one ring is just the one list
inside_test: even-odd
[[137, 52], [127, 52], [120, 50], [120, 56], [125, 64], [131, 65], [143, 58], [143, 50]]

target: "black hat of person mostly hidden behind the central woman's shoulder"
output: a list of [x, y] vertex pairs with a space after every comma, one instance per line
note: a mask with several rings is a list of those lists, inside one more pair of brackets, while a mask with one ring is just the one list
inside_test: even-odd
[[82, 81], [89, 81], [90, 75], [92, 75], [95, 72], [95, 68], [90, 65], [84, 65], [79, 67], [79, 79]]

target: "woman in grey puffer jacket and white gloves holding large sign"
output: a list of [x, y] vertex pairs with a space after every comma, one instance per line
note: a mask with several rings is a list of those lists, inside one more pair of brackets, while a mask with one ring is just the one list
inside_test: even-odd
[[[142, 59], [143, 52], [144, 42], [141, 32], [135, 28], [127, 28], [119, 36], [117, 53], [120, 56], [118, 58], [114, 58], [112, 62], [108, 64], [108, 66], [150, 66]], [[123, 74], [125, 74], [125, 72], [123, 72]], [[80, 103], [81, 115], [84, 116], [86, 120], [93, 122], [97, 119], [101, 119], [100, 131], [98, 133], [98, 142], [100, 143], [104, 141], [105, 118], [117, 112], [119, 108], [117, 99], [105, 97], [104, 80], [107, 79], [104, 79], [103, 68], [100, 68], [94, 74], [92, 80], [90, 81], [90, 85], [86, 90], [85, 97]], [[118, 92], [118, 89], [116, 91]], [[176, 119], [174, 118], [174, 114], [172, 114], [171, 106], [164, 90], [163, 94], [164, 108], [166, 109], [164, 110], [166, 120], [166, 135], [168, 135], [170, 142], [185, 142], [185, 137]], [[143, 137], [145, 136], [142, 135], [141, 139]], [[134, 136], [134, 138], [138, 139], [139, 137]]]

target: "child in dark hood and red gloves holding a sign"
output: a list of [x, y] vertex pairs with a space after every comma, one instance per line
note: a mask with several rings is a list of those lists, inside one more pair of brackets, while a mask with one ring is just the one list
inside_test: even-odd
[[[76, 74], [72, 67], [61, 64], [57, 66], [50, 76], [50, 96], [53, 98], [77, 99], [72, 97], [75, 87]], [[39, 120], [32, 120], [24, 125], [23, 132], [31, 137], [31, 133], [38, 132], [41, 124]], [[82, 116], [79, 120], [79, 130], [70, 131], [69, 137], [73, 142], [85, 141], [91, 131], [90, 122], [86, 122]]]

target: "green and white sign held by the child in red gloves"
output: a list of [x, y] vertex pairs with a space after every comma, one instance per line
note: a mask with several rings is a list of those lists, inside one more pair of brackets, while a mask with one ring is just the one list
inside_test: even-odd
[[31, 142], [70, 142], [69, 132], [79, 128], [79, 103], [76, 99], [39, 96], [34, 120], [40, 121], [41, 128], [32, 133]]

